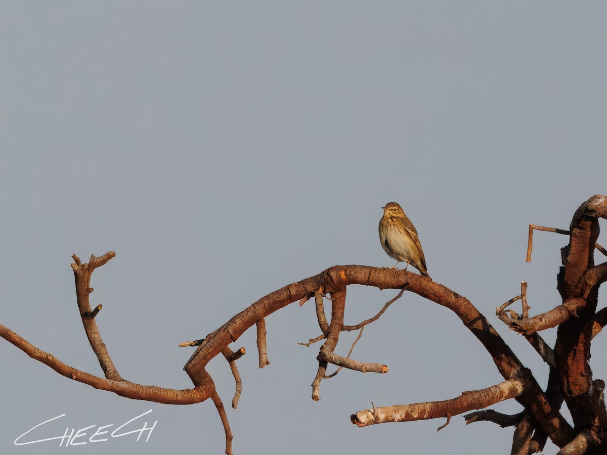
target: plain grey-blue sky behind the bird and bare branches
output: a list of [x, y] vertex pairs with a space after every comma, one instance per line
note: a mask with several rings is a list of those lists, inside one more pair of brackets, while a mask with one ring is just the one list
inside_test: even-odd
[[[97, 322], [118, 371], [189, 388], [181, 368], [193, 348], [178, 343], [329, 266], [392, 266], [377, 225], [396, 201], [430, 275], [470, 298], [544, 386], [548, 369], [495, 307], [521, 280], [532, 314], [559, 303], [566, 238], [535, 234], [527, 264], [527, 225], [567, 229], [580, 203], [607, 192], [606, 16], [604, 2], [2, 2], [0, 322], [101, 375], [69, 264], [114, 250], [91, 301], [103, 305]], [[346, 323], [395, 294], [348, 289]], [[501, 382], [447, 309], [405, 294], [353, 354], [390, 372], [341, 371], [319, 402], [320, 346], [297, 345], [319, 334], [314, 306], [266, 323], [270, 366], [257, 368], [254, 330], [231, 346], [247, 350], [236, 411], [228, 364], [208, 368], [234, 453], [509, 453], [511, 428], [461, 416], [440, 433], [444, 419], [350, 423], [370, 401], [443, 400]], [[554, 343], [554, 331], [543, 336]], [[336, 352], [355, 337], [342, 335]], [[127, 400], [4, 340], [0, 356], [1, 453], [223, 453], [211, 400]], [[607, 379], [599, 357], [595, 378]], [[36, 437], [112, 430], [149, 409], [147, 443], [13, 445], [64, 413]]]

